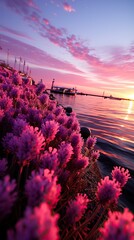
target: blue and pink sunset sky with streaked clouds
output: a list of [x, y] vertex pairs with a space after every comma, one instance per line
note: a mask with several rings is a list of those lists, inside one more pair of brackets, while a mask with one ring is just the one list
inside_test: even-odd
[[36, 82], [134, 99], [133, 0], [0, 0], [0, 60]]

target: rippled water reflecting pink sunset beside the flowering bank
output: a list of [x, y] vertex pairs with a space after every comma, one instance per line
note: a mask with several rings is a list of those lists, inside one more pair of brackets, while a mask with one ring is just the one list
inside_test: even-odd
[[71, 106], [80, 125], [97, 137], [101, 156], [98, 162], [103, 176], [113, 166], [128, 168], [132, 179], [120, 197], [120, 204], [134, 211], [134, 101], [119, 101], [91, 96], [55, 94], [64, 107]]

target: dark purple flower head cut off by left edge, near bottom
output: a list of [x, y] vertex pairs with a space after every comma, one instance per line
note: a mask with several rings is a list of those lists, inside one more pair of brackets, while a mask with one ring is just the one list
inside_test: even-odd
[[0, 180], [0, 219], [7, 216], [16, 201], [17, 193], [15, 192], [15, 180], [10, 181], [9, 176]]

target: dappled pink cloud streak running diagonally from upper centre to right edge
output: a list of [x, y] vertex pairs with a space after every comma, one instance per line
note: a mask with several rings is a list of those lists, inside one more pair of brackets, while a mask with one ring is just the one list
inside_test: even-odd
[[[134, 68], [131, 63], [132, 54], [122, 54], [121, 51], [116, 51], [116, 57], [111, 52], [111, 61], [102, 61], [99, 57], [92, 53], [92, 48], [85, 46], [81, 39], [78, 39], [74, 34], [68, 35], [63, 29], [56, 28], [50, 24], [43, 28], [41, 32], [43, 37], [47, 37], [52, 43], [65, 48], [73, 57], [83, 60], [88, 63], [90, 71], [101, 78], [116, 77], [122, 80], [132, 80], [134, 76]], [[118, 60], [117, 60], [118, 55]], [[120, 61], [119, 61], [120, 60]]]

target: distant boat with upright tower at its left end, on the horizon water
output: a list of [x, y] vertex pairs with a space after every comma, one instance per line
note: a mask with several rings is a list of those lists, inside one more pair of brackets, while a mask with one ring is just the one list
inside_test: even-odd
[[54, 80], [53, 80], [50, 92], [74, 96], [76, 94], [77, 90], [76, 90], [76, 88], [54, 86]]

